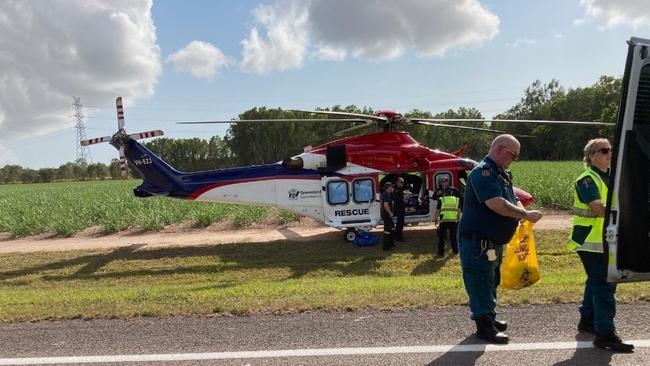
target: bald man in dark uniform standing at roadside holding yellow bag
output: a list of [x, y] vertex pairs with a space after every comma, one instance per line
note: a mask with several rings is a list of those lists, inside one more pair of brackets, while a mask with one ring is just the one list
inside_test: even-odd
[[507, 343], [507, 324], [496, 320], [497, 286], [503, 245], [519, 220], [538, 221], [540, 211], [528, 211], [514, 193], [508, 167], [519, 157], [521, 145], [512, 135], [497, 136], [490, 152], [467, 179], [463, 215], [458, 227], [463, 282], [469, 297], [476, 336], [491, 343]]

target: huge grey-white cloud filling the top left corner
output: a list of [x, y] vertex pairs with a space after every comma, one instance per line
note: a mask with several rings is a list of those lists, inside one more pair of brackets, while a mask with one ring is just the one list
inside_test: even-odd
[[89, 105], [153, 94], [161, 72], [151, 0], [0, 1], [0, 141], [70, 127]]

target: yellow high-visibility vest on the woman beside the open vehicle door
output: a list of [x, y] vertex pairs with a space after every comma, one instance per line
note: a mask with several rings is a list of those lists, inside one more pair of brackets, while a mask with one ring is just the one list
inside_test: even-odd
[[587, 168], [587, 170], [576, 178], [573, 185], [573, 230], [575, 230], [576, 226], [586, 226], [591, 227], [591, 231], [582, 244], [576, 243], [572, 238], [569, 238], [568, 248], [574, 252], [603, 253], [603, 226], [605, 224], [605, 218], [596, 215], [591, 211], [589, 205], [580, 202], [580, 198], [578, 198], [576, 185], [585, 177], [590, 177], [594, 184], [596, 184], [600, 193], [600, 201], [603, 205], [607, 205], [607, 185], [598, 173], [591, 170], [591, 168]]

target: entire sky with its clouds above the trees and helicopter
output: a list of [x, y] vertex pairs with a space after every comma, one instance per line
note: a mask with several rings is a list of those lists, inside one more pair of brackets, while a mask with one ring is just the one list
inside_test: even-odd
[[[76, 158], [88, 138], [223, 136], [255, 106], [355, 104], [492, 117], [534, 80], [621, 76], [626, 40], [650, 38], [647, 0], [3, 0], [0, 166]], [[108, 163], [108, 144], [90, 147]]]

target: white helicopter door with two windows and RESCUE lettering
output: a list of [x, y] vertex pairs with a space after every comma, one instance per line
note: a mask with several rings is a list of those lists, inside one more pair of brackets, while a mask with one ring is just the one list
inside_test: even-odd
[[371, 177], [359, 177], [351, 182], [324, 177], [325, 224], [337, 228], [376, 226], [379, 205], [375, 202], [375, 185]]

